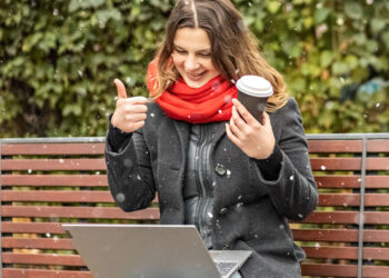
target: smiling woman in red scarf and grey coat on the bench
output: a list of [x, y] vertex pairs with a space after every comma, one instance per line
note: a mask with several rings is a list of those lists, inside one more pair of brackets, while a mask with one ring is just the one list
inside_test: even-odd
[[[110, 118], [106, 159], [124, 211], [159, 198], [161, 224], [196, 225], [209, 249], [252, 250], [236, 277], [299, 277], [288, 219], [317, 205], [301, 115], [229, 0], [178, 1], [149, 66], [153, 102], [127, 98]], [[245, 75], [269, 80], [263, 123], [236, 99]]]

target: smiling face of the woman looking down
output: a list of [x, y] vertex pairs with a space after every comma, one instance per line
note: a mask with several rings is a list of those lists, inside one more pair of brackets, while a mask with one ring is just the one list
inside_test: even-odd
[[189, 87], [199, 88], [219, 71], [211, 61], [211, 42], [200, 28], [181, 28], [176, 31], [173, 64]]

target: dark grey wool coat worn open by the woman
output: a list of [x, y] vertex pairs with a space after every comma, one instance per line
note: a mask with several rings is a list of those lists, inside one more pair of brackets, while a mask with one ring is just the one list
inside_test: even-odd
[[[293, 242], [288, 219], [306, 218], [318, 201], [296, 100], [290, 98], [270, 113], [270, 120], [281, 157], [276, 180], [263, 178], [266, 161], [249, 158], [228, 139], [225, 122], [207, 123], [212, 138], [208, 161], [212, 180], [208, 182], [215, 186], [212, 246], [252, 250], [240, 269], [245, 278], [301, 276], [305, 254]], [[149, 103], [141, 129], [123, 133], [110, 127], [108, 181], [124, 211], [147, 208], [157, 192], [161, 224], [183, 224], [182, 181], [190, 125], [172, 120], [157, 103]]]

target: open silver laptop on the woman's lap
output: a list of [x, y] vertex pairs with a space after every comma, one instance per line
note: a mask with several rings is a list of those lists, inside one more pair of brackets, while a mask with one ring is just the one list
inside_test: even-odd
[[251, 255], [207, 250], [191, 225], [63, 224], [96, 278], [228, 278]]

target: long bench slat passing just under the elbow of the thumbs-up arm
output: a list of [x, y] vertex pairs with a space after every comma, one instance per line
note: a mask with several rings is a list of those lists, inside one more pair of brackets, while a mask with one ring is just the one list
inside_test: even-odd
[[158, 208], [124, 212], [107, 207], [2, 206], [2, 217], [159, 219]]

